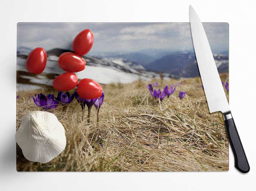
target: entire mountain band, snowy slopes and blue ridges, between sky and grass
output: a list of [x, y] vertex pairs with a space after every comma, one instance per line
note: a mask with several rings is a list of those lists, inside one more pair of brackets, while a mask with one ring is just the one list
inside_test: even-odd
[[[39, 75], [30, 74], [26, 70], [26, 59], [30, 52], [31, 49], [26, 47], [17, 49], [18, 82], [26, 86], [22, 88], [19, 85], [18, 87], [21, 89], [27, 89], [28, 84], [33, 88], [42, 86], [45, 83], [51, 86], [53, 79], [65, 72], [58, 66], [59, 56], [64, 52], [72, 51], [58, 48], [47, 51], [46, 68]], [[152, 78], [160, 78], [160, 73], [165, 79], [199, 76], [194, 52], [171, 52], [148, 64], [145, 62], [140, 64], [138, 60], [143, 60], [143, 58], [152, 60], [153, 57], [147, 57], [142, 53], [128, 54], [132, 59], [129, 60], [127, 59], [129, 56], [125, 55], [126, 58], [122, 58], [121, 54], [104, 57], [83, 56], [86, 61], [85, 70], [77, 72], [76, 75], [79, 79], [91, 78], [101, 84], [112, 82], [130, 83], [138, 79], [148, 81]], [[136, 56], [138, 59], [134, 61]], [[228, 55], [214, 54], [213, 56], [219, 73], [228, 72]]]

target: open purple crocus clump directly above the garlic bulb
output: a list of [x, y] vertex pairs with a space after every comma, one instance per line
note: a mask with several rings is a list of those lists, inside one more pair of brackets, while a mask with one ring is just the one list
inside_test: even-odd
[[33, 100], [36, 106], [42, 107], [45, 111], [48, 109], [55, 109], [59, 104], [53, 94], [48, 94], [47, 96], [42, 93], [37, 94], [37, 96], [35, 95], [35, 97], [33, 97]]

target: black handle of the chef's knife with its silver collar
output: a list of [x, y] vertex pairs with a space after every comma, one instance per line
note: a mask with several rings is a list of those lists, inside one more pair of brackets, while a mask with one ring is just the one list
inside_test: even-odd
[[[239, 134], [236, 130], [235, 122], [232, 118], [231, 113], [224, 114], [224, 122], [226, 127], [227, 136], [229, 139], [230, 147], [233, 151], [235, 158], [235, 167], [239, 172], [247, 173], [250, 171], [250, 166], [245, 155], [245, 151], [240, 140]], [[229, 118], [228, 116], [231, 116]]]

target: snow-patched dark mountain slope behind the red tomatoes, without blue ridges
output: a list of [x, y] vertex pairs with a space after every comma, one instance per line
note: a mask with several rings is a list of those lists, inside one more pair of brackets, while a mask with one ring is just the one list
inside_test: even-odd
[[[64, 52], [70, 50], [52, 49], [47, 51], [47, 64], [43, 73], [39, 75], [30, 74], [26, 70], [26, 59], [29, 53], [24, 55], [17, 52], [17, 77], [18, 89], [27, 90], [42, 87], [42, 85], [52, 86], [52, 81], [65, 71], [58, 66], [58, 58]], [[83, 56], [86, 61], [85, 70], [77, 72], [79, 79], [90, 78], [101, 84], [108, 83], [130, 83], [138, 79], [148, 81], [152, 78], [159, 78], [158, 72], [148, 71], [140, 64], [128, 61], [123, 58], [96, 58], [92, 56]], [[163, 73], [165, 79], [176, 78], [177, 76]]]

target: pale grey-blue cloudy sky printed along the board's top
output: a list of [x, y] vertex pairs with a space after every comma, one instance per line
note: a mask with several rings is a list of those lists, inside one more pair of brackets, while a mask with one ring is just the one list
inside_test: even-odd
[[[228, 23], [203, 23], [214, 53], [228, 50]], [[76, 34], [89, 28], [89, 52], [138, 52], [143, 49], [193, 50], [189, 22], [183, 23], [18, 23], [18, 48], [72, 49]]]

